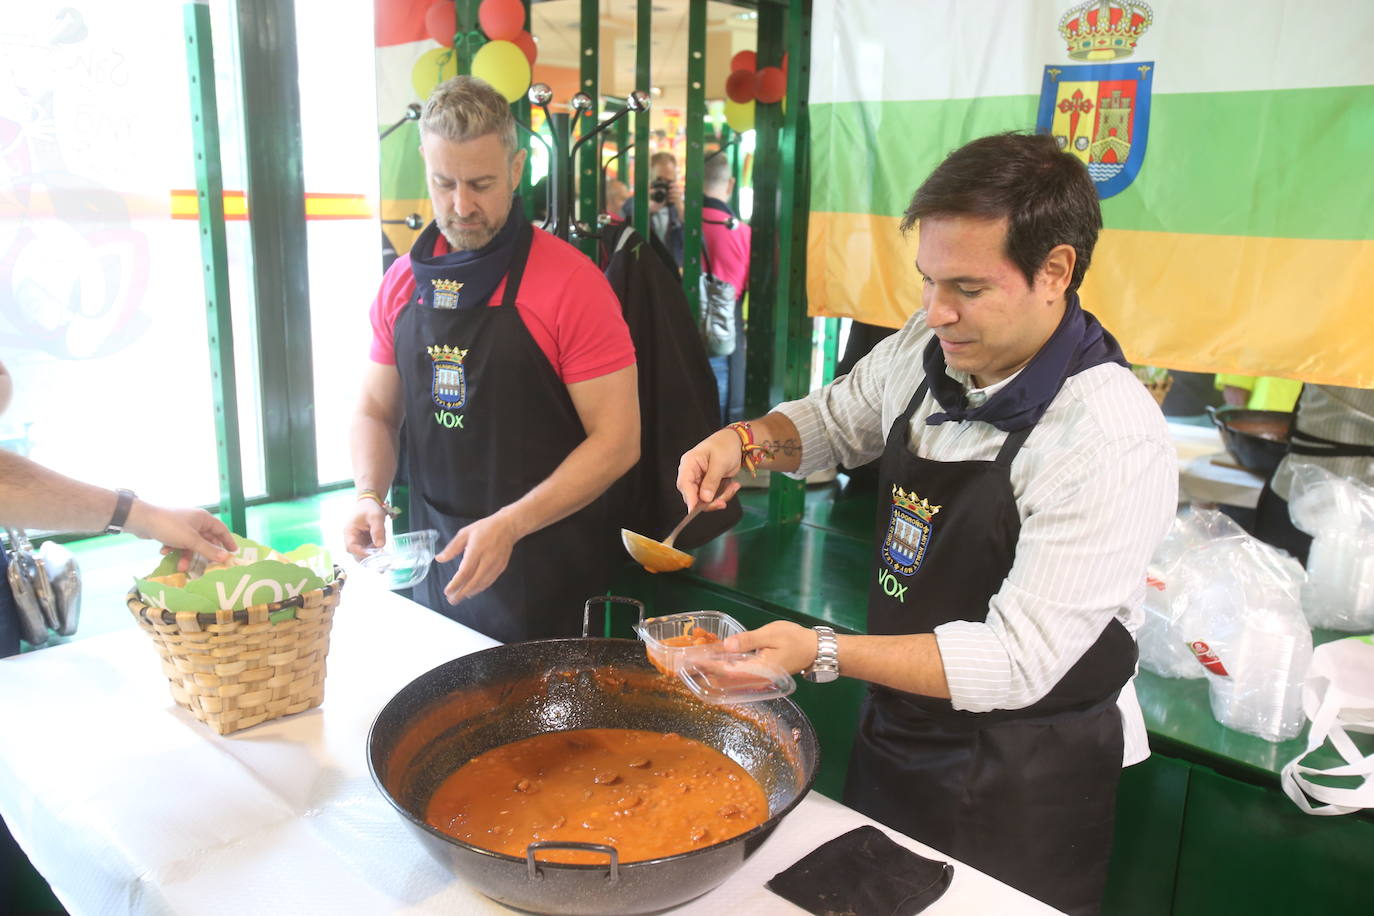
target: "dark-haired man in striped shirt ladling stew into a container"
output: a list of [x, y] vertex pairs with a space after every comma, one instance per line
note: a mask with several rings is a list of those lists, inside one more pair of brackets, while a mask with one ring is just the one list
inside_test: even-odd
[[1095, 912], [1146, 566], [1178, 466], [1164, 417], [1079, 305], [1102, 225], [1047, 136], [954, 151], [916, 191], [922, 310], [824, 389], [683, 456], [688, 508], [745, 467], [882, 457], [867, 634], [775, 622], [727, 648], [870, 683], [845, 801], [1059, 909]]

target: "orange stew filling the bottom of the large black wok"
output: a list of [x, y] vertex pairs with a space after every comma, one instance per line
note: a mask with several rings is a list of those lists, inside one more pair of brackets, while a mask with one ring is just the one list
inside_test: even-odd
[[[480, 754], [434, 792], [425, 820], [474, 846], [525, 856], [534, 840], [603, 843], [620, 861], [687, 853], [768, 820], [768, 798], [736, 762], [672, 732], [587, 728]], [[605, 864], [605, 854], [540, 853]]]

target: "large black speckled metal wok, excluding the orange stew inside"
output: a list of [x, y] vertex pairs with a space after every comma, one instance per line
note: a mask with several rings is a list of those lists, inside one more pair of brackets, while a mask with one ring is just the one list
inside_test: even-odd
[[[771, 816], [713, 846], [636, 862], [569, 865], [493, 853], [425, 823], [434, 790], [482, 751], [543, 732], [636, 728], [677, 732], [743, 766], [768, 797]], [[658, 674], [643, 643], [611, 639], [497, 645], [411, 681], [368, 733], [368, 768], [389, 802], [441, 861], [502, 904], [536, 913], [651, 913], [686, 902], [734, 873], [811, 788], [816, 732], [790, 699], [709, 706]], [[570, 845], [562, 845], [570, 846]], [[578, 845], [587, 849], [587, 845]]]

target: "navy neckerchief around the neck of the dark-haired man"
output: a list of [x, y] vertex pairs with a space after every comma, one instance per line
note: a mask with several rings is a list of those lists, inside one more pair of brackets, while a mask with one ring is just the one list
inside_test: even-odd
[[982, 420], [1003, 433], [1024, 430], [1035, 426], [1044, 415], [1066, 378], [1103, 363], [1128, 365], [1112, 332], [1079, 305], [1077, 293], [1069, 297], [1063, 319], [1044, 346], [1007, 387], [988, 398], [982, 407], [969, 408], [963, 386], [945, 375], [940, 339], [932, 336], [925, 353], [926, 382], [943, 411], [927, 416], [926, 423], [938, 426], [947, 420]]

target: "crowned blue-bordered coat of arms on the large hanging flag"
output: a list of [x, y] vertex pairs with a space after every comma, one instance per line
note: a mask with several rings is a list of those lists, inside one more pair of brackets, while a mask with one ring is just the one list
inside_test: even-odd
[[1088, 166], [1099, 198], [1125, 190], [1140, 172], [1150, 129], [1154, 63], [1128, 58], [1154, 21], [1138, 0], [1090, 0], [1059, 19], [1069, 56], [1087, 65], [1046, 66], [1036, 130]]

